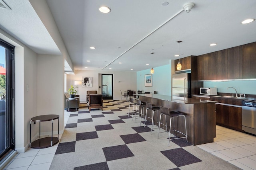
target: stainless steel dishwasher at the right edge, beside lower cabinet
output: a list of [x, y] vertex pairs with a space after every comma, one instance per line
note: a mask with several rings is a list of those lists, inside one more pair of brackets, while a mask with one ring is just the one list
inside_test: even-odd
[[256, 135], [256, 101], [242, 100], [242, 130]]

